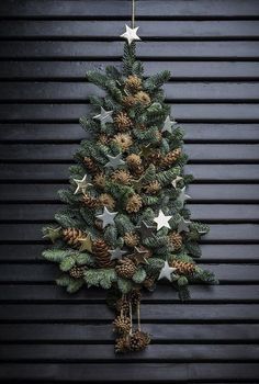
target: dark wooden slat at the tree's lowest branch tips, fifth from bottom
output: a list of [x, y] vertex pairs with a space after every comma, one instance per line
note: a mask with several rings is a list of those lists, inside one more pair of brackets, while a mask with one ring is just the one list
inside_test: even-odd
[[[229, 264], [229, 268], [232, 264]], [[232, 285], [192, 285], [191, 302], [214, 302], [214, 303], [258, 303], [259, 302], [259, 285], [241, 284]], [[104, 294], [102, 290], [82, 290], [77, 294], [68, 294], [64, 289], [53, 284], [36, 284], [30, 283], [20, 284], [19, 287], [14, 282], [9, 284], [1, 283], [0, 301], [2, 303], [102, 303], [104, 302]], [[168, 284], [158, 285], [158, 290], [154, 293], [143, 293], [143, 303], [179, 303], [178, 293], [170, 289]], [[259, 325], [258, 325], [259, 327]], [[1, 334], [1, 327], [0, 327]], [[0, 336], [1, 339], [1, 336]]]

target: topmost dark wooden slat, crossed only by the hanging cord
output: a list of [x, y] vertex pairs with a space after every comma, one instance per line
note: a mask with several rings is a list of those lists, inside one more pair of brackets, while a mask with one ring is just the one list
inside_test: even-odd
[[[50, 3], [41, 0], [11, 0], [1, 1], [0, 13], [4, 16], [130, 16], [131, 2], [110, 0], [99, 0], [92, 2], [90, 0], [77, 1], [58, 1], [54, 0]], [[257, 0], [210, 0], [207, 7], [206, 0], [193, 1], [181, 0], [167, 1], [138, 1], [138, 16], [255, 16], [259, 12]]]

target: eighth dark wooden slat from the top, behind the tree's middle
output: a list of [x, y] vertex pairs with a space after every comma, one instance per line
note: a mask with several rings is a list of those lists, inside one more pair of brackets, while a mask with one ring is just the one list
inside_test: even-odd
[[[75, 144], [0, 144], [0, 159], [4, 161], [71, 161], [79, 149]], [[189, 162], [226, 162], [259, 160], [259, 145], [256, 144], [188, 144], [183, 150]]]

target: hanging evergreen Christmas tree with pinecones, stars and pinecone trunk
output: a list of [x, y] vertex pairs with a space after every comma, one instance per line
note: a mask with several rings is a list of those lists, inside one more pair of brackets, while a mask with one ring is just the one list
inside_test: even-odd
[[183, 172], [183, 132], [161, 89], [170, 72], [144, 76], [135, 56], [137, 32], [133, 12], [132, 27], [121, 35], [122, 69], [87, 74], [105, 97], [89, 98], [93, 113], [80, 123], [91, 139], [81, 142], [70, 187], [59, 191], [66, 208], [55, 215], [56, 225], [43, 229], [54, 242], [43, 256], [63, 272], [57, 284], [69, 293], [86, 286], [108, 291], [116, 352], [150, 342], [140, 328], [143, 291], [165, 280], [188, 300], [190, 283], [216, 283], [194, 261], [209, 227], [191, 221], [185, 207], [192, 177]]

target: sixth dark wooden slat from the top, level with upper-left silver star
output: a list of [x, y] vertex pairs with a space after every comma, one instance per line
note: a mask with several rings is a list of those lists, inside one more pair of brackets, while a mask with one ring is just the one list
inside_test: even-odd
[[[259, 50], [258, 50], [259, 52]], [[33, 104], [33, 103], [4, 103], [0, 104], [0, 122], [42, 121], [42, 122], [78, 122], [79, 117], [92, 112], [90, 105], [80, 103], [68, 104]], [[259, 121], [257, 103], [199, 103], [173, 104], [172, 114], [179, 122], [202, 121], [239, 121], [248, 123]]]

